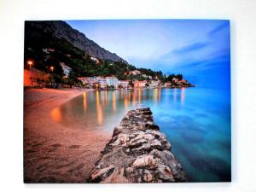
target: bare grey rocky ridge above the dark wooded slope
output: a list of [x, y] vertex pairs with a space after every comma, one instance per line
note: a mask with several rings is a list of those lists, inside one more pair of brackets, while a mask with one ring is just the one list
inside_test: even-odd
[[121, 61], [128, 63], [118, 55], [103, 49], [94, 41], [86, 38], [86, 36], [76, 29], [73, 29], [65, 21], [50, 20], [50, 21], [26, 21], [26, 36], [40, 36], [42, 32], [52, 36], [67, 40], [74, 47], [84, 51], [85, 54], [94, 56], [106, 61]]

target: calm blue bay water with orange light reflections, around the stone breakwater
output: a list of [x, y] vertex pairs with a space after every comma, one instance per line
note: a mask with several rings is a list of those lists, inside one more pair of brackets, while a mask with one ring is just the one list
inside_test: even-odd
[[76, 129], [113, 131], [131, 108], [150, 107], [154, 121], [193, 182], [230, 181], [230, 90], [94, 91], [55, 108], [51, 116]]

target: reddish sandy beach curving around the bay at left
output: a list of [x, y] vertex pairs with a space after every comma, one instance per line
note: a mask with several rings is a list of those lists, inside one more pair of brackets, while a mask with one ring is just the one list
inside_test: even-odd
[[84, 183], [111, 135], [63, 126], [51, 111], [83, 91], [24, 91], [24, 181]]

